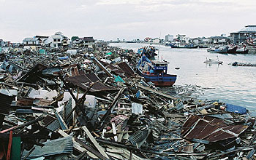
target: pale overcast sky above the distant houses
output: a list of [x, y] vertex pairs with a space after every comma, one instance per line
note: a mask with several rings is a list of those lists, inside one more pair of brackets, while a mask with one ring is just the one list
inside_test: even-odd
[[256, 25], [255, 0], [0, 0], [0, 39], [220, 36]]

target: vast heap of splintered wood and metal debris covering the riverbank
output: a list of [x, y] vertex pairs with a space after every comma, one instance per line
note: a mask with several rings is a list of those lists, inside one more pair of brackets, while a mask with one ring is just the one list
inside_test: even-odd
[[138, 56], [1, 54], [0, 159], [256, 159], [249, 111], [154, 87], [133, 71]]

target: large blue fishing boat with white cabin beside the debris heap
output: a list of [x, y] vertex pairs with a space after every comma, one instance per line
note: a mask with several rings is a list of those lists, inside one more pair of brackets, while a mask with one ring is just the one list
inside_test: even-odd
[[137, 72], [146, 81], [153, 82], [157, 87], [170, 87], [175, 83], [177, 76], [167, 74], [167, 64], [165, 60], [148, 60], [143, 55], [137, 66]]

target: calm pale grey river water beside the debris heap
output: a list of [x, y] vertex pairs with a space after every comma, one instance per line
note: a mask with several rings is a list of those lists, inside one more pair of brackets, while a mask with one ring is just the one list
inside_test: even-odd
[[[134, 49], [147, 44], [110, 44], [124, 49]], [[203, 63], [206, 57], [223, 61], [222, 65]], [[256, 67], [234, 67], [227, 65], [235, 61], [256, 63], [256, 55], [225, 55], [209, 53], [206, 49], [172, 49], [160, 46], [159, 57], [167, 60], [168, 73], [177, 75], [175, 85], [192, 84], [204, 89], [201, 98], [220, 100], [241, 105], [250, 111], [256, 110]], [[180, 68], [176, 70], [174, 68]], [[253, 112], [255, 116], [256, 113]]]

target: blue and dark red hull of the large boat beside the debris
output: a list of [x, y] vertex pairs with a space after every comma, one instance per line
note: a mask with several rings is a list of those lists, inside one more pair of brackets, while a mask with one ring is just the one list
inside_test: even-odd
[[143, 73], [138, 70], [140, 76], [143, 76], [146, 81], [151, 81], [157, 87], [170, 87], [176, 82], [177, 76], [171, 74], [155, 75], [152, 73]]

